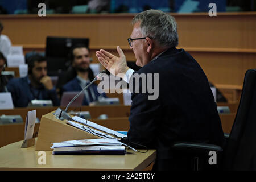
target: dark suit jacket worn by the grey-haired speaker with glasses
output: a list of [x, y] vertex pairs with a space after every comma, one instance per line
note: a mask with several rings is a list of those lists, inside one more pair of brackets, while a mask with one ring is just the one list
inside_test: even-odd
[[[159, 73], [159, 97], [149, 100], [149, 93], [132, 94], [128, 141], [156, 148], [156, 169], [175, 169], [171, 150], [175, 141], [224, 145], [224, 133], [209, 82], [189, 53], [172, 47], [137, 73]], [[142, 87], [142, 82], [139, 86]]]

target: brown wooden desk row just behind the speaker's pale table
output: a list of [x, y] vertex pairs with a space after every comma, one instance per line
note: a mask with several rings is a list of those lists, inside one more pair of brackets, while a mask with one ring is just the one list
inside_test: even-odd
[[[230, 133], [238, 103], [218, 103], [218, 106], [229, 106], [230, 114], [220, 114], [222, 128], [225, 133]], [[56, 110], [57, 107], [38, 107], [38, 108], [16, 108], [13, 110], [0, 110], [0, 115], [21, 115], [23, 121], [26, 121], [27, 112], [36, 109], [36, 116], [41, 119], [42, 115]], [[80, 110], [71, 107], [71, 110]], [[93, 121], [99, 125], [108, 127], [113, 130], [127, 131], [129, 130], [130, 106], [124, 105], [108, 105], [108, 106], [82, 106], [81, 111], [89, 111]], [[108, 119], [97, 119], [99, 115], [107, 114]], [[35, 136], [38, 133], [40, 123], [36, 123]], [[13, 142], [24, 139], [24, 123], [0, 125], [0, 147]]]

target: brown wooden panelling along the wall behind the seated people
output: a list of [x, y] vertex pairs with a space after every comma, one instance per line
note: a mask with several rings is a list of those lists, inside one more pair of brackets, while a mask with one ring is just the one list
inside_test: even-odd
[[[178, 24], [179, 46], [199, 62], [214, 85], [242, 86], [247, 69], [256, 68], [256, 13], [171, 13]], [[135, 14], [1, 15], [3, 34], [24, 52], [44, 51], [47, 36], [88, 37], [93, 63], [95, 52], [106, 49], [118, 55], [123, 49], [127, 60], [135, 60], [127, 38]], [[225, 91], [225, 90], [224, 90]], [[233, 92], [233, 91], [230, 91]], [[238, 101], [239, 93], [225, 93]]]

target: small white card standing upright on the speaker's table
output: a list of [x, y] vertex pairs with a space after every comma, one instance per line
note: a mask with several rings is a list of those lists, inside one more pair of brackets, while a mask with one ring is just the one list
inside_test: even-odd
[[25, 140], [33, 138], [36, 121], [36, 110], [28, 111], [25, 125]]

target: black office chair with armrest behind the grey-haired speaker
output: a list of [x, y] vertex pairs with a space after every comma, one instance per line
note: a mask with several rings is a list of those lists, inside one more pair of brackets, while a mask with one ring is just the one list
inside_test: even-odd
[[[224, 150], [220, 146], [194, 142], [176, 142], [174, 152], [190, 156], [188, 169], [194, 171], [256, 169], [256, 69], [245, 73], [242, 95]], [[209, 151], [216, 151], [217, 164], [209, 164]]]

